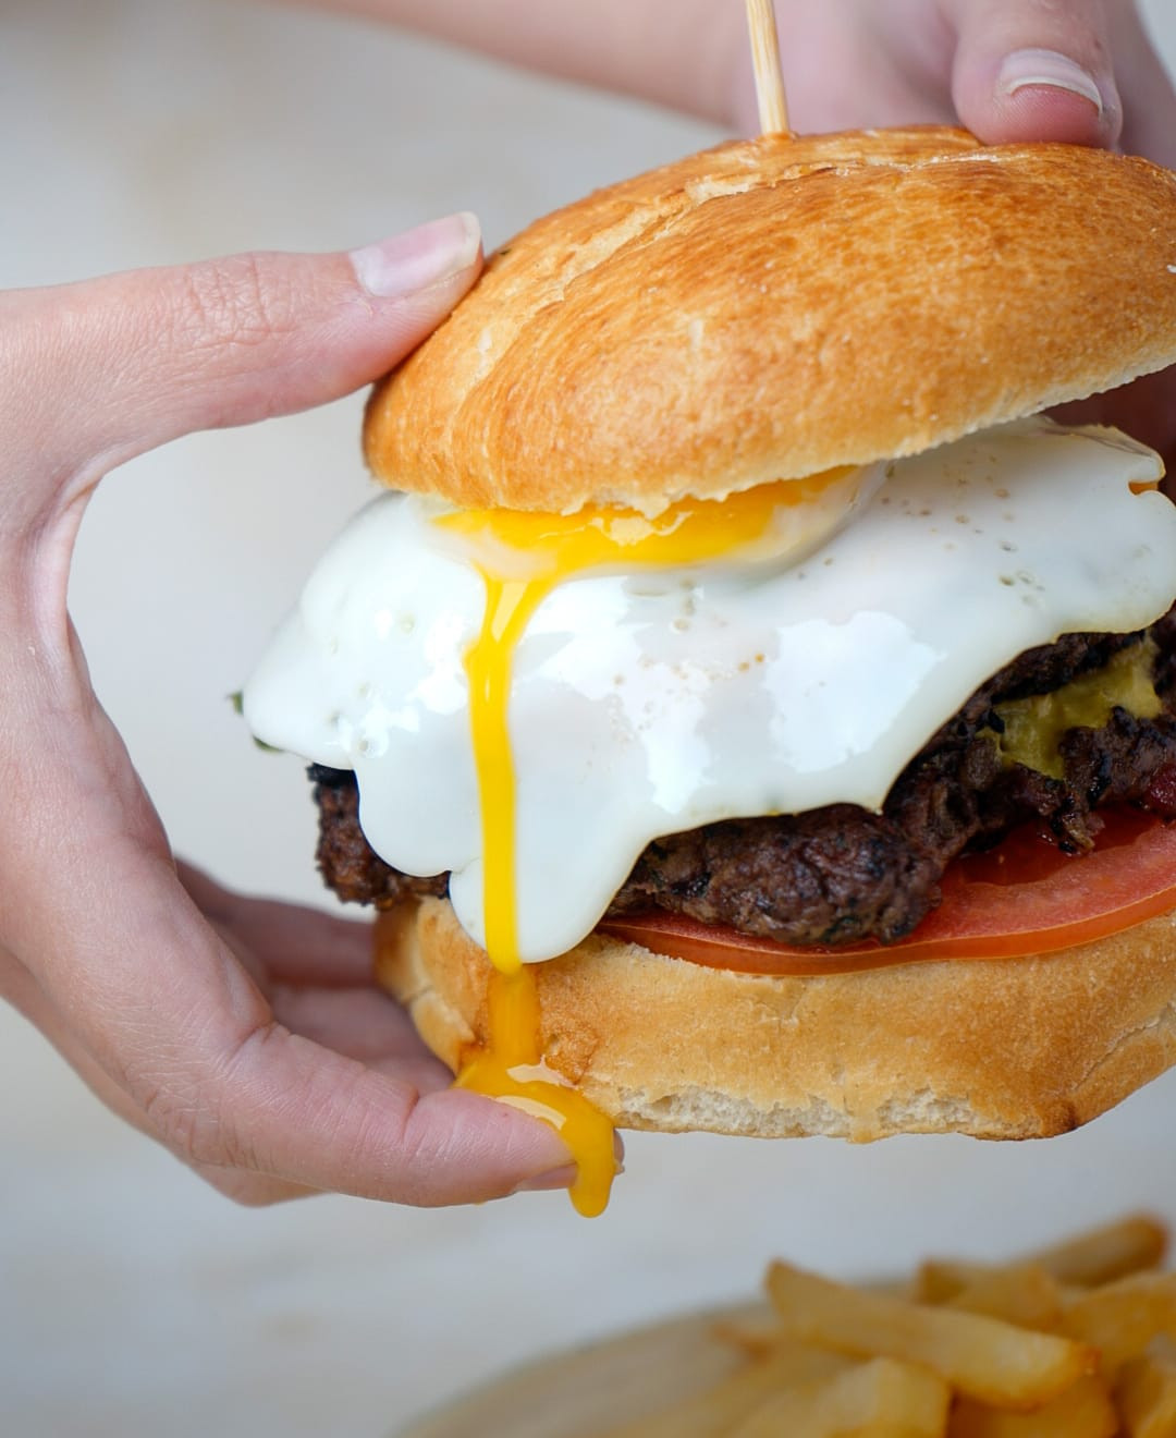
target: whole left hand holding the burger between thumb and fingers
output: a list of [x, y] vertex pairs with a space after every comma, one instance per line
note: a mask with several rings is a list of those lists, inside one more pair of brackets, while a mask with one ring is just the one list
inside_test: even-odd
[[[0, 994], [219, 1189], [411, 1204], [564, 1186], [535, 1119], [449, 1087], [369, 929], [177, 871], [66, 613], [82, 510], [181, 434], [375, 378], [480, 267], [476, 223], [0, 296]], [[562, 1172], [561, 1172], [562, 1169]]]

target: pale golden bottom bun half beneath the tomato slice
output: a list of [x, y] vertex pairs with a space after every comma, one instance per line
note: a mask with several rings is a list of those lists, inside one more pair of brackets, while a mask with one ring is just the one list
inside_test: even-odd
[[[486, 955], [444, 900], [380, 925], [380, 982], [460, 1067], [486, 1032]], [[1176, 1063], [1176, 913], [1055, 955], [822, 978], [592, 935], [536, 978], [546, 1061], [627, 1129], [1047, 1137]]]

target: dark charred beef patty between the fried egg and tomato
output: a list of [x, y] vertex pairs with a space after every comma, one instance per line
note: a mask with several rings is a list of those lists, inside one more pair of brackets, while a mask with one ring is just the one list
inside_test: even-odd
[[[1055, 774], [1002, 752], [1002, 705], [1054, 695], [1133, 650], [1150, 666], [1162, 712], [1116, 706], [1100, 728], [1064, 731]], [[309, 774], [319, 869], [341, 899], [385, 909], [447, 892], [446, 874], [413, 879], [369, 848], [349, 769]], [[911, 759], [881, 814], [831, 804], [669, 834], [646, 848], [608, 912], [663, 909], [798, 945], [893, 942], [939, 903], [939, 880], [965, 850], [1037, 820], [1077, 853], [1098, 831], [1098, 805], [1124, 802], [1176, 815], [1176, 608], [1146, 633], [1067, 634], [1019, 656]]]

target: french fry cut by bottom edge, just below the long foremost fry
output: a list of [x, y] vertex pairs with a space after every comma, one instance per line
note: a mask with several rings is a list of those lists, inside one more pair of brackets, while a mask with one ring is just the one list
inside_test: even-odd
[[943, 1438], [950, 1396], [930, 1369], [876, 1357], [776, 1393], [729, 1438]]

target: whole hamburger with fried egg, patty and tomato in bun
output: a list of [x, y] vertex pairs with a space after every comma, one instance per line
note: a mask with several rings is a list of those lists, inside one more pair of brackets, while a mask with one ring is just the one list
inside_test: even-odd
[[377, 387], [246, 718], [582, 1206], [604, 1120], [1045, 1136], [1176, 1060], [1176, 509], [1042, 416], [1173, 361], [1173, 175], [920, 128], [589, 196]]

